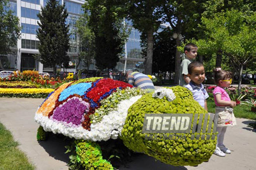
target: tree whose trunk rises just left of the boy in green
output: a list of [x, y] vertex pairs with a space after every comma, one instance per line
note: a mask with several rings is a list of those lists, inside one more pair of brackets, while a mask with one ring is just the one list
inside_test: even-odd
[[[200, 33], [197, 25], [205, 9], [205, 0], [165, 0], [163, 5], [164, 20], [170, 23], [171, 28], [177, 34], [186, 38], [197, 38]], [[181, 39], [176, 38], [176, 47], [181, 45]], [[178, 84], [180, 77], [180, 52], [176, 50], [175, 57], [175, 82]]]

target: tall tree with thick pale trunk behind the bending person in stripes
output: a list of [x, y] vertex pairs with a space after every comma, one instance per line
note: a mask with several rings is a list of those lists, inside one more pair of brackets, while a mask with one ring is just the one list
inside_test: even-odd
[[127, 0], [128, 17], [133, 22], [133, 27], [147, 35], [147, 57], [145, 58], [145, 74], [152, 74], [153, 58], [153, 33], [163, 22], [161, 5], [163, 0]]

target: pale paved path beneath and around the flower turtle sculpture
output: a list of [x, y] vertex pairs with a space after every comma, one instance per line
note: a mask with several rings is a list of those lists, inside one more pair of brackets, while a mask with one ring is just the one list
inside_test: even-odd
[[[37, 170], [68, 170], [68, 155], [64, 154], [67, 141], [50, 136], [47, 141], [36, 141], [38, 124], [34, 115], [43, 99], [0, 98], [0, 122], [9, 129], [19, 148], [26, 153]], [[256, 170], [256, 131], [247, 127], [249, 122], [237, 118], [237, 126], [228, 127], [224, 144], [232, 153], [225, 157], [212, 155], [209, 162], [198, 167], [174, 167], [166, 165], [147, 155], [133, 158], [126, 167], [119, 170]]]

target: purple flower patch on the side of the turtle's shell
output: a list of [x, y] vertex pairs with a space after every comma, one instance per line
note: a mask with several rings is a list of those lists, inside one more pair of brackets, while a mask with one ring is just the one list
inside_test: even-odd
[[58, 121], [80, 125], [84, 120], [84, 113], [89, 110], [89, 103], [81, 98], [73, 97], [54, 110], [52, 118]]

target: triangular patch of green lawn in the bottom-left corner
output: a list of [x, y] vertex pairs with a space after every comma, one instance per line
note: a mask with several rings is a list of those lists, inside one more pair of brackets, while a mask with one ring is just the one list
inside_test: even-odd
[[0, 123], [0, 170], [35, 170], [18, 145], [10, 131]]

